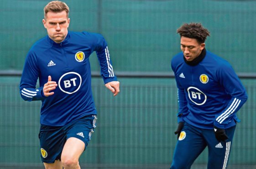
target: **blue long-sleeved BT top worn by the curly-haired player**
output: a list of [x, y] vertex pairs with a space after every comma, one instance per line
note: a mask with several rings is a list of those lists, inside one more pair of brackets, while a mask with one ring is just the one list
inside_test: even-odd
[[172, 58], [178, 87], [178, 122], [202, 129], [227, 129], [235, 125], [236, 112], [247, 100], [246, 89], [232, 66], [206, 50], [197, 65], [188, 65], [180, 52]]

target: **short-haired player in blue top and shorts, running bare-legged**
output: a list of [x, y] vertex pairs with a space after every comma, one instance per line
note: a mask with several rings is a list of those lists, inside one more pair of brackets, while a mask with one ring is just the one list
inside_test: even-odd
[[24, 100], [42, 101], [39, 139], [46, 169], [80, 169], [79, 157], [97, 119], [89, 64], [94, 51], [105, 86], [114, 96], [120, 91], [104, 37], [68, 31], [68, 12], [61, 1], [45, 6], [42, 22], [48, 35], [29, 50], [20, 83]]

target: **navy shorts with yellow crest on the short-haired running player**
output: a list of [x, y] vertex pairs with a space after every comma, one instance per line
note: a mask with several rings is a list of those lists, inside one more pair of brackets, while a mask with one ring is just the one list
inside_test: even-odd
[[61, 160], [64, 144], [70, 137], [82, 140], [86, 149], [96, 127], [96, 119], [96, 115], [87, 115], [64, 126], [41, 124], [39, 139], [42, 162], [54, 163], [55, 160]]

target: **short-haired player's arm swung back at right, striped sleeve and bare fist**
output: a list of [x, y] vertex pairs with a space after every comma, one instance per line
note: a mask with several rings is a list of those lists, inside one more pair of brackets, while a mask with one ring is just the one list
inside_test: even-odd
[[105, 86], [110, 89], [110, 91], [114, 93], [115, 96], [120, 92], [120, 83], [117, 81], [117, 78], [114, 74], [107, 42], [102, 35], [98, 34], [98, 42], [95, 51], [99, 60], [100, 75], [104, 80]]

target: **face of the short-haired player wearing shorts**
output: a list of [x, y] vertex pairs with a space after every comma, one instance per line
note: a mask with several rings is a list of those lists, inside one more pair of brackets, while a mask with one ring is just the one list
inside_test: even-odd
[[47, 12], [43, 25], [47, 29], [48, 36], [56, 43], [65, 40], [68, 34], [70, 19], [67, 18], [65, 10], [62, 12]]

